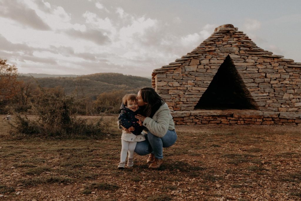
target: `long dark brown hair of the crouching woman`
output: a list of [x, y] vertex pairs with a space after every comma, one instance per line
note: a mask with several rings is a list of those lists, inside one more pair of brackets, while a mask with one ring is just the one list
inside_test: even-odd
[[142, 87], [140, 93], [143, 101], [147, 102], [144, 108], [144, 114], [147, 117], [152, 117], [159, 107], [165, 103], [165, 100], [157, 94], [154, 88]]

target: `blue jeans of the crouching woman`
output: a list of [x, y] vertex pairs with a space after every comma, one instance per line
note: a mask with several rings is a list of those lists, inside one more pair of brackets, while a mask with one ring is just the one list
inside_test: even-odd
[[135, 152], [138, 155], [154, 153], [157, 159], [163, 159], [163, 147], [172, 146], [176, 140], [177, 133], [174, 130], [167, 130], [167, 133], [161, 138], [148, 131], [145, 140], [137, 142]]

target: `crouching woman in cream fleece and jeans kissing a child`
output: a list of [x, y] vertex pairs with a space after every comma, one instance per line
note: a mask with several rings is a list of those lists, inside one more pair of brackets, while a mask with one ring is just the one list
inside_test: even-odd
[[137, 143], [135, 152], [139, 155], [149, 154], [149, 168], [157, 169], [163, 163], [163, 147], [172, 146], [177, 140], [175, 124], [165, 100], [153, 88], [141, 88], [137, 103], [145, 116], [136, 115], [135, 118], [148, 131], [146, 140]]

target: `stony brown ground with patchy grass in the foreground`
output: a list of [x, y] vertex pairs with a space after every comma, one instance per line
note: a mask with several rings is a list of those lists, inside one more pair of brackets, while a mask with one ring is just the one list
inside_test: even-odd
[[18, 139], [4, 117], [0, 200], [301, 200], [300, 126], [177, 126], [159, 170], [139, 155], [119, 170], [117, 130], [98, 140]]

